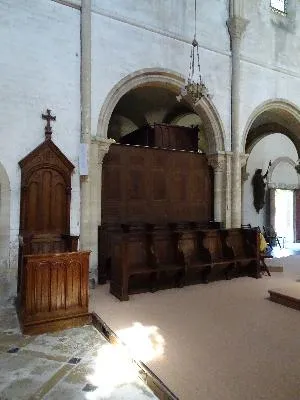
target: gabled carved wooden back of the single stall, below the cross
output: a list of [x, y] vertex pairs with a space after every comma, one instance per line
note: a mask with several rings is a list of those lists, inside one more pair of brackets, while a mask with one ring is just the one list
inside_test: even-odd
[[43, 142], [19, 164], [21, 235], [69, 234], [74, 166], [51, 140]]

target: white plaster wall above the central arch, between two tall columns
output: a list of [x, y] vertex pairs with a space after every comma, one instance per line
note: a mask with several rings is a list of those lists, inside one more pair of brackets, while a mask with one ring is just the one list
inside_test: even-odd
[[[225, 145], [229, 150], [231, 60], [227, 1], [198, 3], [201, 71], [228, 133]], [[122, 78], [145, 68], [163, 68], [187, 76], [193, 4], [191, 0], [93, 2], [93, 135], [106, 96]]]

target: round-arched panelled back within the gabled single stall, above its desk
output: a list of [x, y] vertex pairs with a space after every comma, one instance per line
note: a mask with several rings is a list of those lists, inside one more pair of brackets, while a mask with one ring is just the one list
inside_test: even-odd
[[23, 254], [62, 252], [69, 232], [69, 189], [53, 168], [33, 172], [22, 188]]

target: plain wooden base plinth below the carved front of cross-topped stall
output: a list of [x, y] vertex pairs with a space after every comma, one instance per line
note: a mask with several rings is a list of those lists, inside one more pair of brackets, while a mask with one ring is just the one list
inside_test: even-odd
[[21, 329], [24, 335], [39, 335], [41, 333], [55, 332], [68, 328], [75, 328], [92, 323], [91, 314], [81, 314], [57, 318], [48, 321], [24, 322], [20, 319]]

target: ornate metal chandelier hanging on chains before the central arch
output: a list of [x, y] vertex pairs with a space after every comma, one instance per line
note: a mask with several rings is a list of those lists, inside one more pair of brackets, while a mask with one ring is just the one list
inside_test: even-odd
[[200, 72], [200, 57], [199, 57], [199, 44], [197, 41], [197, 0], [195, 0], [195, 31], [194, 39], [192, 41], [192, 48], [190, 54], [190, 67], [188, 78], [185, 85], [181, 88], [180, 95], [176, 96], [177, 101], [184, 97], [189, 97], [192, 102], [197, 103], [202, 97], [210, 97], [208, 89], [205, 86], [201, 72]]

